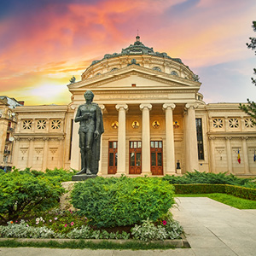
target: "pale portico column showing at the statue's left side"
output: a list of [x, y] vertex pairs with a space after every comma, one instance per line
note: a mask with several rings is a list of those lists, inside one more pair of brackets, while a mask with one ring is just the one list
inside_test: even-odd
[[70, 168], [74, 170], [80, 170], [80, 148], [79, 148], [79, 122], [75, 122], [74, 119], [76, 117], [78, 108], [75, 109], [73, 114], [73, 133], [72, 133], [72, 145], [71, 145], [71, 160], [70, 160]]

